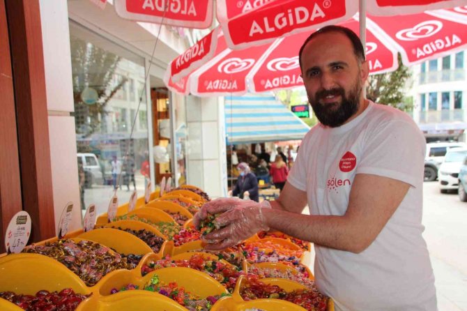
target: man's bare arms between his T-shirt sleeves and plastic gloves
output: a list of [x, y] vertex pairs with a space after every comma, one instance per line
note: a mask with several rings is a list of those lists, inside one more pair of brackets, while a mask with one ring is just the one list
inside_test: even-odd
[[279, 202], [271, 202], [273, 210], [263, 209], [268, 227], [328, 248], [355, 253], [373, 243], [410, 188], [408, 183], [388, 177], [357, 174], [346, 213], [326, 216], [298, 214], [303, 210], [298, 207], [303, 204], [303, 197], [300, 190], [293, 189], [289, 183], [287, 186], [289, 189], [284, 188]]

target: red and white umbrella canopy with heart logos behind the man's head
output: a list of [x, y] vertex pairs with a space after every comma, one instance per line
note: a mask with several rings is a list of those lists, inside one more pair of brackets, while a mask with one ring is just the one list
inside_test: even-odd
[[[395, 70], [398, 52], [404, 64], [411, 66], [465, 49], [467, 17], [463, 10], [436, 10], [392, 17], [368, 16], [366, 54], [370, 73]], [[358, 32], [358, 16], [341, 25]], [[298, 52], [309, 34], [297, 33], [278, 38], [272, 44], [231, 50], [226, 36], [219, 30], [217, 37], [210, 39], [210, 42], [217, 40], [215, 52], [210, 50], [213, 54], [197, 59], [197, 66], [190, 61], [184, 63], [184, 72], [191, 72], [185, 77], [172, 74], [171, 68], [177, 62], [174, 60], [164, 82], [172, 91], [197, 96], [241, 95], [247, 91], [257, 93], [301, 86], [303, 80]], [[183, 79], [177, 80], [180, 77]]]

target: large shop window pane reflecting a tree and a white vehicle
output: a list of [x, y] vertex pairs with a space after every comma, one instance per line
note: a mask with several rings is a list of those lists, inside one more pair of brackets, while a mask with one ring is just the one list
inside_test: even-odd
[[[116, 188], [119, 203], [132, 190], [144, 194], [141, 163], [148, 160], [144, 59], [82, 26], [70, 22], [72, 82], [78, 160], [84, 169], [82, 208], [95, 204], [105, 213]], [[144, 115], [141, 116], [141, 110]], [[128, 157], [125, 157], [128, 155]]]

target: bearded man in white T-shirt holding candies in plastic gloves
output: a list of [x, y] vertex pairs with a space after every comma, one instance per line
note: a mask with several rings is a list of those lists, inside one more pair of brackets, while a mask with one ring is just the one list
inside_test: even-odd
[[365, 98], [369, 63], [350, 29], [315, 31], [299, 61], [320, 123], [305, 135], [277, 200], [222, 198], [202, 206], [195, 226], [207, 213], [221, 214], [221, 229], [204, 236], [206, 249], [279, 230], [314, 243], [316, 286], [335, 310], [437, 310], [422, 237], [422, 132], [408, 114]]

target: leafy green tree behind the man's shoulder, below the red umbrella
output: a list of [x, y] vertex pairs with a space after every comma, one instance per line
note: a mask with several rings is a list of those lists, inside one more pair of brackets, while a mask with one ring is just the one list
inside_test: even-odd
[[405, 96], [411, 71], [402, 64], [398, 54], [399, 67], [392, 73], [371, 75], [368, 78], [367, 98], [378, 104], [389, 105], [404, 112], [413, 110], [413, 100]]

